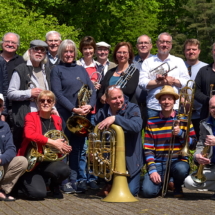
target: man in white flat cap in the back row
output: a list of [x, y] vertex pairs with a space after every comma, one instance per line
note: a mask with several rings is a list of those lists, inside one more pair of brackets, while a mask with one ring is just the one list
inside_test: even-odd
[[108, 59], [110, 52], [110, 45], [106, 42], [96, 43], [96, 60], [103, 66], [101, 69], [102, 76], [104, 77], [108, 70], [116, 67], [117, 65]]

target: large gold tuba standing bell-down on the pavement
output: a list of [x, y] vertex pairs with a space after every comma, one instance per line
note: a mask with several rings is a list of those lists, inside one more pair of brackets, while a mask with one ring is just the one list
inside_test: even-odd
[[108, 130], [99, 130], [98, 125], [89, 134], [88, 170], [90, 174], [110, 181], [113, 185], [105, 202], [136, 202], [131, 194], [126, 171], [124, 132], [118, 125], [111, 125]]

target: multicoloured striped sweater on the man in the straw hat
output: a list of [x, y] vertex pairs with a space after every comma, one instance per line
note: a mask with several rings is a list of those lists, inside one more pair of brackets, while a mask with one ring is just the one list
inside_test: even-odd
[[[144, 151], [149, 174], [157, 172], [156, 163], [166, 162], [167, 160], [174, 120], [176, 120], [176, 117], [161, 119], [160, 116], [151, 117], [148, 120], [145, 130]], [[175, 136], [172, 161], [187, 161], [187, 157], [176, 154], [185, 144], [187, 122], [180, 121], [179, 127], [181, 130], [179, 134]], [[189, 144], [196, 144], [196, 136], [192, 124], [190, 126]]]

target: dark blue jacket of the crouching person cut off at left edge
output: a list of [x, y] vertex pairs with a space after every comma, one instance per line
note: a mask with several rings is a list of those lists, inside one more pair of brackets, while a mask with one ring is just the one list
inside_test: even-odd
[[1, 166], [10, 163], [16, 156], [16, 147], [13, 144], [13, 137], [9, 125], [0, 121], [0, 159]]

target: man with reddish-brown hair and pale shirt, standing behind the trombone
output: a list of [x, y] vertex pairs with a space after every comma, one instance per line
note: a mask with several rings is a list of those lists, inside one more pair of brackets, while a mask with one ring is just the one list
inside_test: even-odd
[[[191, 80], [195, 80], [199, 69], [206, 66], [207, 63], [199, 61], [199, 54], [201, 52], [200, 42], [197, 39], [187, 39], [184, 43], [184, 55], [186, 58], [185, 64], [188, 68], [188, 72]], [[196, 137], [199, 139], [199, 123], [200, 123], [200, 111], [201, 103], [194, 100], [192, 123], [196, 132]]]

